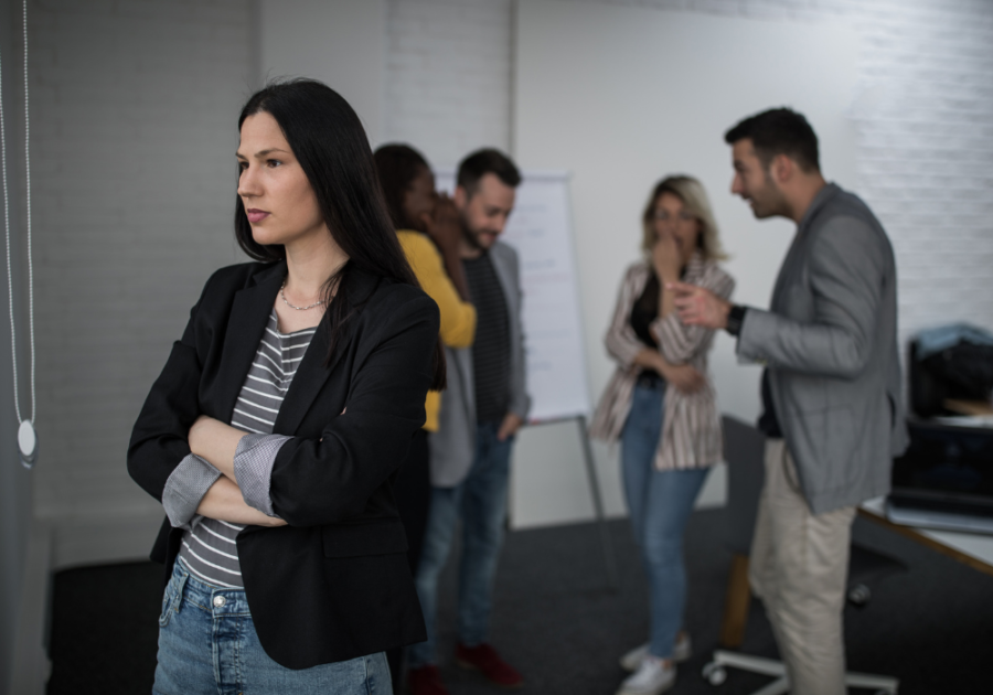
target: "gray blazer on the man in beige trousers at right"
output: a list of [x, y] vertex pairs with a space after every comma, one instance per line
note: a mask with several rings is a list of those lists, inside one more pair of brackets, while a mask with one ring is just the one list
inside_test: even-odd
[[748, 308], [737, 353], [769, 367], [772, 402], [814, 514], [885, 494], [907, 446], [896, 263], [857, 196], [822, 189], [800, 222], [770, 311]]

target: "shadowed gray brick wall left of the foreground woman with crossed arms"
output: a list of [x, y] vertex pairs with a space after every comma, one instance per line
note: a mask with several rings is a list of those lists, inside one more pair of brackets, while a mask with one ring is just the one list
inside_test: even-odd
[[47, 0], [30, 26], [36, 513], [159, 513], [125, 453], [203, 282], [237, 258], [247, 3]]

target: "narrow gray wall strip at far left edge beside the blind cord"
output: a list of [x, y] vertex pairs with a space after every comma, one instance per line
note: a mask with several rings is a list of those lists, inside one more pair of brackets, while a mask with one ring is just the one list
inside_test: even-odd
[[[22, 274], [24, 246], [24, 99], [23, 62], [21, 58], [21, 3], [0, 0], [0, 58], [3, 67], [3, 125], [7, 136], [7, 181], [10, 195], [10, 225], [13, 243], [14, 299], [19, 309], [28, 306]], [[0, 200], [0, 205], [3, 201]], [[0, 211], [2, 214], [2, 211]], [[2, 221], [0, 221], [2, 225]], [[2, 234], [2, 228], [0, 228]], [[0, 242], [2, 245], [2, 242]], [[2, 252], [0, 252], [2, 254]], [[0, 261], [2, 263], [2, 261]], [[31, 473], [18, 458], [18, 419], [14, 414], [13, 379], [10, 360], [10, 322], [8, 319], [7, 271], [0, 288], [0, 693], [9, 691], [13, 671], [21, 596], [24, 588], [26, 541], [31, 523]], [[28, 330], [23, 311], [19, 311], [20, 345], [26, 345]], [[21, 351], [21, 383], [26, 381], [28, 352]], [[21, 407], [28, 409], [28, 389], [22, 388]], [[24, 411], [23, 417], [29, 413]]]

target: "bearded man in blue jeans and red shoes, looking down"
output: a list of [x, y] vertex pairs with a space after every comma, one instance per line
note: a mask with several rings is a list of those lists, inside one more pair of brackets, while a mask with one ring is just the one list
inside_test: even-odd
[[413, 695], [446, 693], [435, 667], [438, 577], [462, 520], [459, 642], [456, 660], [503, 686], [523, 682], [487, 642], [493, 575], [503, 539], [510, 456], [531, 399], [524, 387], [524, 336], [517, 255], [498, 240], [514, 206], [521, 174], [485, 149], [459, 164], [455, 203], [462, 221], [460, 255], [476, 306], [471, 348], [446, 349], [448, 388], [438, 431], [430, 435], [431, 506], [417, 571], [428, 640], [409, 652]]

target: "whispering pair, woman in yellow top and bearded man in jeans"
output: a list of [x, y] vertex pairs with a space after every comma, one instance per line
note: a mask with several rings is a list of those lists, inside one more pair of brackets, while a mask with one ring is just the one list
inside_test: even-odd
[[[483, 149], [458, 167], [451, 197], [406, 145], [375, 152], [389, 214], [421, 288], [441, 317], [448, 387], [429, 392], [426, 419], [395, 487], [427, 640], [407, 650], [412, 693], [445, 693], [436, 666], [438, 579], [461, 520], [455, 659], [515, 687], [523, 678], [489, 643], [493, 577], [506, 522], [511, 448], [527, 418], [517, 254], [499, 240], [521, 173]], [[428, 434], [429, 432], [429, 434]], [[391, 653], [399, 685], [403, 652]]]

